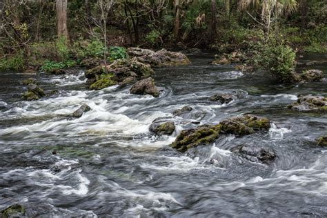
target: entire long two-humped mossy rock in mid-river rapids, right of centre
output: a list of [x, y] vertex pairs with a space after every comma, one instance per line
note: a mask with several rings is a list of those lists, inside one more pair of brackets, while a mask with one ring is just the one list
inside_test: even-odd
[[270, 121], [264, 117], [244, 115], [232, 117], [221, 121], [217, 125], [202, 125], [189, 130], [182, 130], [175, 141], [170, 144], [181, 152], [188, 148], [214, 142], [221, 134], [234, 134], [236, 136], [248, 135], [259, 130], [268, 130]]

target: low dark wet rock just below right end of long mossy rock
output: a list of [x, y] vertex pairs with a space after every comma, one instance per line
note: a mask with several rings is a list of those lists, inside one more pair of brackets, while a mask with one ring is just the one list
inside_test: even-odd
[[276, 154], [273, 149], [257, 146], [237, 146], [232, 149], [237, 155], [244, 157], [250, 161], [261, 162], [262, 164], [271, 164]]

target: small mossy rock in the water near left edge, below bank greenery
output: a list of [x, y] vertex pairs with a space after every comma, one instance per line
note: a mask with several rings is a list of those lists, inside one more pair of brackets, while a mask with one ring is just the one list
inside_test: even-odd
[[21, 95], [21, 98], [23, 100], [27, 101], [33, 101], [33, 100], [39, 100], [41, 97], [45, 97], [46, 94], [44, 93], [44, 90], [38, 86], [38, 82], [33, 78], [28, 78], [22, 81], [23, 85], [27, 85], [28, 91], [24, 92], [23, 95]]

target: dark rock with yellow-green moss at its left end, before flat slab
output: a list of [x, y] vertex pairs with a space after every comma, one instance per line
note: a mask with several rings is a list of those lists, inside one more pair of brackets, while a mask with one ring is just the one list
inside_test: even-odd
[[141, 63], [135, 59], [119, 59], [108, 66], [97, 66], [86, 70], [84, 75], [88, 78], [89, 88], [99, 90], [121, 83], [127, 78], [137, 80], [150, 77], [154, 73], [148, 64]]

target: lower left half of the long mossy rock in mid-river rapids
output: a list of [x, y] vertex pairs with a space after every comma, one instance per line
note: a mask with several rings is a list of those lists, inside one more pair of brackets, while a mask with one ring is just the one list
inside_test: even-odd
[[180, 152], [186, 152], [189, 148], [214, 142], [219, 137], [220, 130], [221, 125], [202, 125], [194, 129], [182, 130], [170, 146]]

